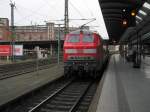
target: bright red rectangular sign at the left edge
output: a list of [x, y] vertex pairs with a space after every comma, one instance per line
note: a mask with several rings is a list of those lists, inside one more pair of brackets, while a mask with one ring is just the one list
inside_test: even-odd
[[0, 56], [11, 56], [11, 45], [0, 45]]

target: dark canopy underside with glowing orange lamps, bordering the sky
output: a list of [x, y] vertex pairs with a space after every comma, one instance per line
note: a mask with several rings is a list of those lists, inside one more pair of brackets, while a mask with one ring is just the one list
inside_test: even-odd
[[119, 42], [124, 31], [135, 26], [135, 17], [132, 17], [131, 13], [136, 14], [144, 1], [99, 0], [110, 41]]

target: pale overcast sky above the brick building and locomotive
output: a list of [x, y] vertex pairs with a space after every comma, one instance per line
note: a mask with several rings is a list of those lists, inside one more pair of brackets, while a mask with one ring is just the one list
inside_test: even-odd
[[[64, 19], [65, 0], [12, 0], [15, 2], [15, 25], [41, 25], [44, 21]], [[0, 0], [0, 17], [10, 19], [10, 0]], [[103, 38], [108, 38], [98, 0], [69, 0], [70, 26], [81, 26], [89, 23], [92, 30], [98, 31]], [[55, 23], [63, 23], [54, 21]]]

